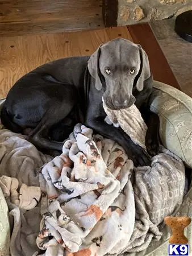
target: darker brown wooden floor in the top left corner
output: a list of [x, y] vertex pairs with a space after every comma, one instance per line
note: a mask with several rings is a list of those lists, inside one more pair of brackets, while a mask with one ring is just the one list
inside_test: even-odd
[[0, 36], [104, 27], [102, 0], [0, 0]]

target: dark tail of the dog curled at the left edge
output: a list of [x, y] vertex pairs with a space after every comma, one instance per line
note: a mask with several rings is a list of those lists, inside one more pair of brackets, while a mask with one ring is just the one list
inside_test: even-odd
[[1, 109], [1, 122], [2, 124], [9, 130], [14, 133], [21, 133], [22, 127], [16, 125], [16, 123], [12, 122], [10, 115], [7, 113], [5, 106]]

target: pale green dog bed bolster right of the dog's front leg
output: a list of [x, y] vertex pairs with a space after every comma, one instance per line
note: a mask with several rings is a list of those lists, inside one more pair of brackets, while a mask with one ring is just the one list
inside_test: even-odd
[[160, 117], [161, 142], [192, 168], [192, 99], [162, 82], [153, 87], [149, 105]]

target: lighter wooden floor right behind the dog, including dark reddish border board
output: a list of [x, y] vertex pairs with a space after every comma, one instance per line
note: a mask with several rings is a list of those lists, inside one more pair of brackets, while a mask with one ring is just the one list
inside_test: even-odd
[[179, 88], [148, 24], [101, 30], [8, 36], [0, 38], [0, 98], [25, 73], [52, 60], [91, 55], [101, 43], [122, 37], [140, 43], [149, 56], [155, 80]]

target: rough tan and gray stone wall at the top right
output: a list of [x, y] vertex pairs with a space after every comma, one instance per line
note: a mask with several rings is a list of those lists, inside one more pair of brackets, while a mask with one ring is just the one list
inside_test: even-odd
[[119, 0], [118, 26], [169, 19], [192, 10], [192, 0]]

